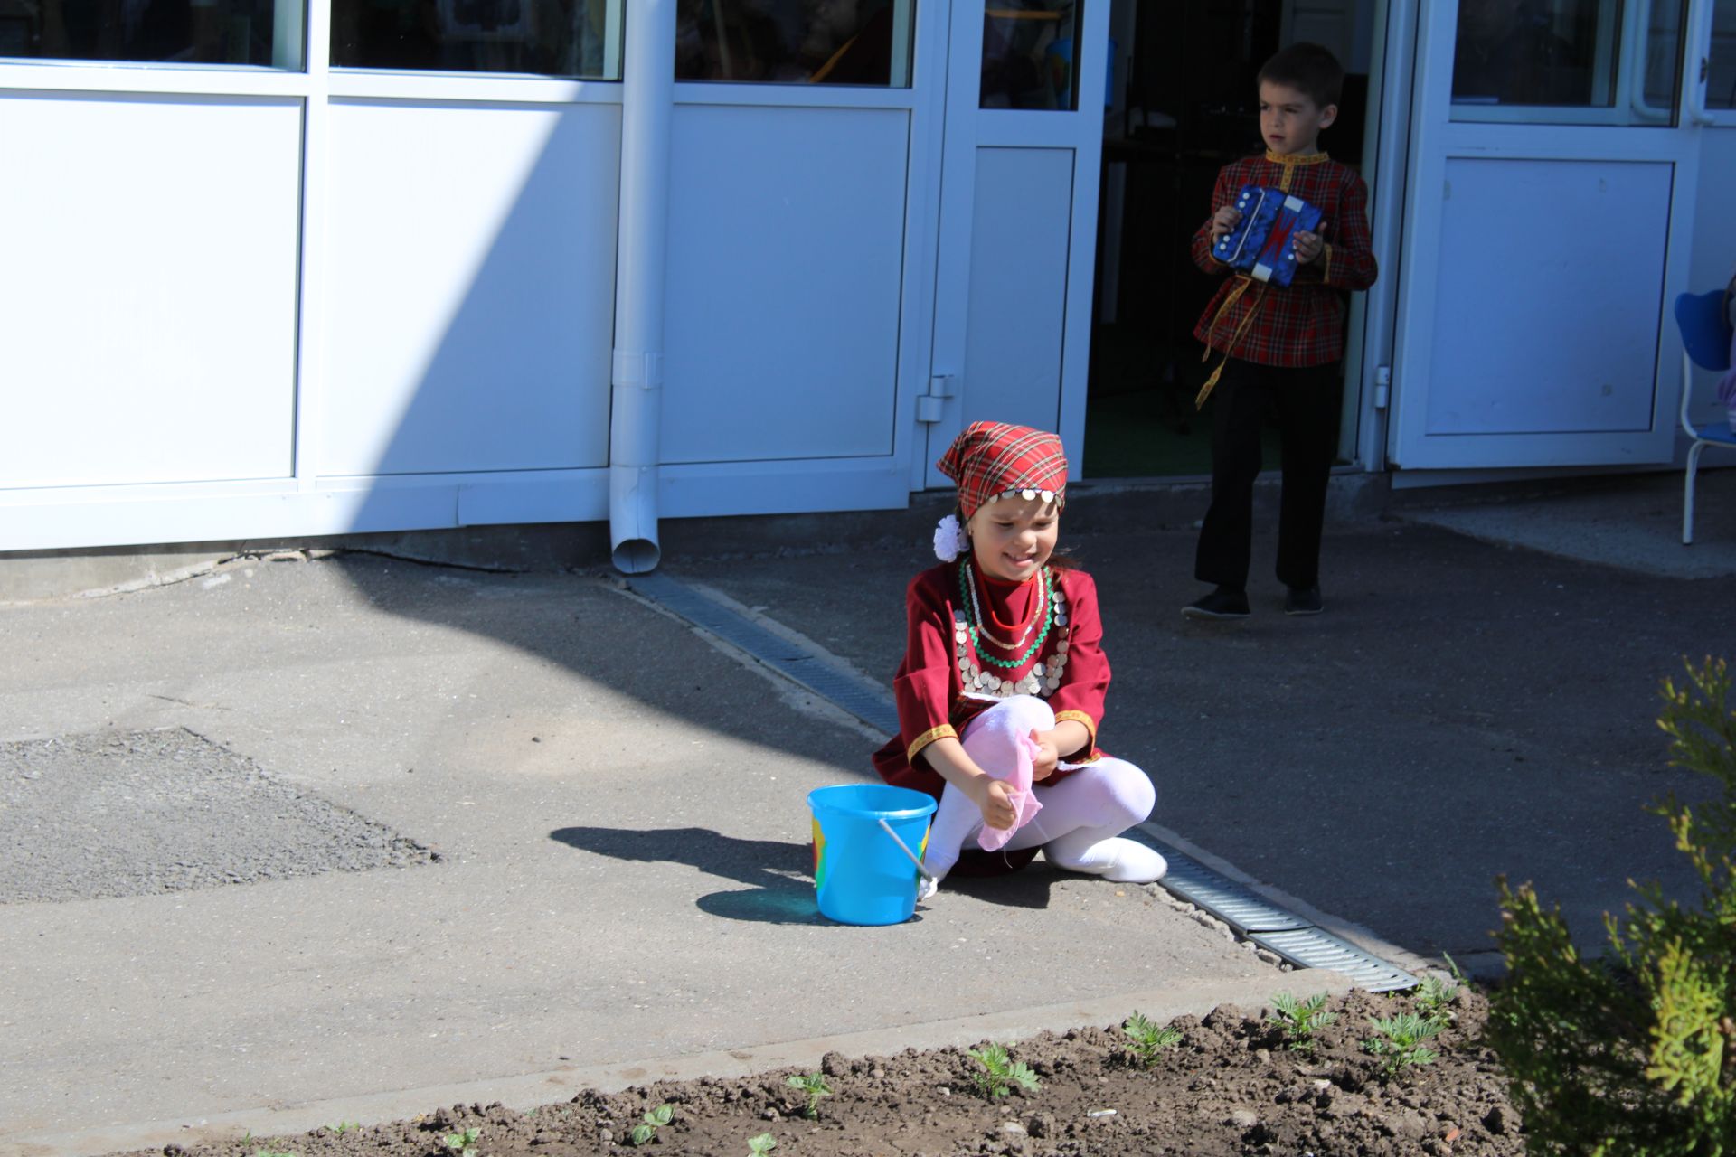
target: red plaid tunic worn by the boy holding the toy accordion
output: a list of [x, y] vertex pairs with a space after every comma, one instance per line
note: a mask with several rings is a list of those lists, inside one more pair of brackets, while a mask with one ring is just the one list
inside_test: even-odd
[[[1262, 366], [1323, 366], [1344, 357], [1344, 295], [1366, 290], [1378, 272], [1368, 241], [1368, 187], [1347, 165], [1325, 153], [1283, 156], [1267, 151], [1226, 165], [1212, 191], [1212, 212], [1236, 199], [1241, 186], [1293, 193], [1321, 212], [1321, 255], [1297, 267], [1288, 286], [1224, 278], [1200, 316], [1194, 337], [1220, 354]], [[1193, 239], [1200, 269], [1213, 276], [1229, 265], [1212, 257], [1212, 217]]]

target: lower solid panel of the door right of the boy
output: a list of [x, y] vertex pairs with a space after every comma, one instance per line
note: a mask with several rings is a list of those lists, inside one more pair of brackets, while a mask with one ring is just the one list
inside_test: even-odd
[[1429, 434], [1651, 428], [1672, 168], [1448, 160]]

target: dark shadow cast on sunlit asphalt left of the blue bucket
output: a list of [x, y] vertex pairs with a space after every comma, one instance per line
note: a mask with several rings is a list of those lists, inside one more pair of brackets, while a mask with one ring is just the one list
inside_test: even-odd
[[762, 925], [830, 925], [814, 904], [814, 853], [806, 843], [738, 840], [705, 827], [556, 827], [550, 840], [618, 860], [687, 864], [748, 885], [701, 895], [701, 912]]

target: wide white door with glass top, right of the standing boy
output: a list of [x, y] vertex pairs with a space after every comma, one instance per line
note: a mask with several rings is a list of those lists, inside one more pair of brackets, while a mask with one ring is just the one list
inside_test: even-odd
[[1394, 465], [1668, 461], [1687, 21], [1687, 0], [1424, 5]]

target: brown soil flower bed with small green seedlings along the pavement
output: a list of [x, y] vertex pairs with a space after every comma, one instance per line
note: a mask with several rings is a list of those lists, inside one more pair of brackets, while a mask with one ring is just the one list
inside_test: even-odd
[[[1302, 980], [1305, 973], [1295, 978]], [[830, 1053], [830, 1095], [809, 1098], [781, 1069], [620, 1093], [585, 1091], [535, 1110], [453, 1105], [413, 1121], [316, 1129], [220, 1145], [170, 1145], [165, 1157], [1375, 1157], [1524, 1152], [1495, 1055], [1479, 1044], [1488, 1004], [1462, 990], [1439, 1056], [1387, 1072], [1364, 1048], [1371, 1018], [1415, 1011], [1408, 996], [1351, 992], [1304, 1048], [1259, 1013], [1220, 1006], [1170, 1023], [1179, 1037], [1146, 1067], [1121, 1027], [1073, 1029], [1009, 1044], [1036, 1089], [977, 1088], [969, 1049], [896, 1056]], [[809, 1103], [814, 1100], [814, 1115]], [[665, 1108], [667, 1107], [667, 1112]], [[649, 1114], [649, 1115], [648, 1115]], [[667, 1121], [667, 1122], [665, 1122]], [[648, 1128], [649, 1126], [649, 1128]], [[637, 1128], [637, 1136], [635, 1136]], [[637, 1143], [635, 1143], [637, 1141]], [[769, 1143], [767, 1143], [769, 1141]], [[149, 1150], [155, 1157], [156, 1150]], [[137, 1154], [128, 1157], [148, 1157]]]

